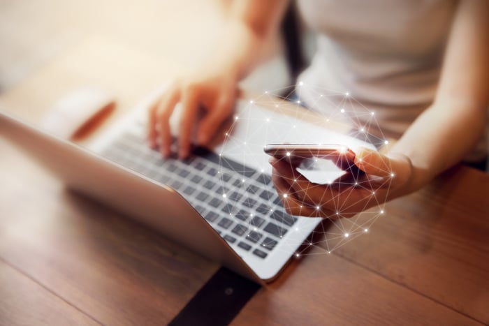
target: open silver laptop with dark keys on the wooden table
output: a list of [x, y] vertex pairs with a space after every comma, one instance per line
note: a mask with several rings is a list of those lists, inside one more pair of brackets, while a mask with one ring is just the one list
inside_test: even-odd
[[1, 112], [0, 130], [69, 188], [257, 283], [273, 281], [322, 221], [286, 214], [263, 146], [323, 140], [372, 147], [284, 114], [280, 101], [267, 96], [239, 100], [224, 142], [213, 149], [197, 148], [184, 161], [163, 159], [146, 142], [147, 109], [157, 94], [84, 147]]

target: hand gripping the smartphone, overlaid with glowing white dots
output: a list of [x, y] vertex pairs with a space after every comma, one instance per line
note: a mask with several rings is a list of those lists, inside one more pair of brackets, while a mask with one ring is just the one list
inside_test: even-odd
[[[356, 154], [355, 165], [365, 172], [345, 175], [332, 184], [315, 184], [301, 175], [297, 165], [271, 158], [272, 180], [291, 215], [324, 218], [351, 217], [411, 190], [413, 173], [407, 156], [385, 156], [371, 149]], [[348, 172], [348, 171], [347, 171]]]

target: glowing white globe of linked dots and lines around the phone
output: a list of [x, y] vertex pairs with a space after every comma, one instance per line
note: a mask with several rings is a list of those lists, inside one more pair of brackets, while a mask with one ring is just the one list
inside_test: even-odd
[[[295, 91], [284, 95], [287, 89]], [[300, 99], [302, 92], [308, 94], [307, 103]], [[226, 212], [240, 220], [248, 237], [265, 233], [265, 220], [271, 218], [280, 226], [268, 238], [284, 242], [281, 248], [300, 244], [297, 257], [331, 253], [368, 233], [385, 215], [386, 194], [395, 177], [388, 161], [379, 163], [384, 177], [378, 177], [366, 175], [337, 153], [292, 151], [277, 159], [282, 168], [289, 168], [278, 178], [278, 187], [270, 177], [270, 156], [263, 151], [268, 144], [341, 145], [353, 152], [388, 145], [375, 112], [348, 91], [319, 89], [303, 82], [265, 91], [240, 105], [224, 138], [219, 149], [221, 195], [227, 202]], [[314, 230], [312, 225], [317, 225]], [[270, 246], [276, 241], [271, 240]]]

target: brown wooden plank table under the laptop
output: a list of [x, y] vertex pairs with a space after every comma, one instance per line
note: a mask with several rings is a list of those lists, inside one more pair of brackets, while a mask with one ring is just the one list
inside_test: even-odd
[[[91, 38], [0, 105], [36, 123], [55, 98], [96, 84], [117, 95], [113, 120], [180, 69]], [[161, 325], [219, 268], [71, 193], [2, 138], [0, 153], [0, 325]], [[368, 235], [293, 260], [235, 325], [488, 324], [488, 194], [488, 175], [453, 168], [386, 205]]]

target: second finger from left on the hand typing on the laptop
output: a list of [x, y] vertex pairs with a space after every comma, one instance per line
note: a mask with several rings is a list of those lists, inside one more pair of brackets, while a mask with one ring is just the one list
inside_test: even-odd
[[170, 117], [175, 110], [175, 105], [180, 101], [180, 90], [172, 89], [168, 91], [159, 102], [156, 110], [156, 125], [160, 138], [160, 152], [164, 157], [170, 156], [170, 148], [172, 143], [170, 130]]

